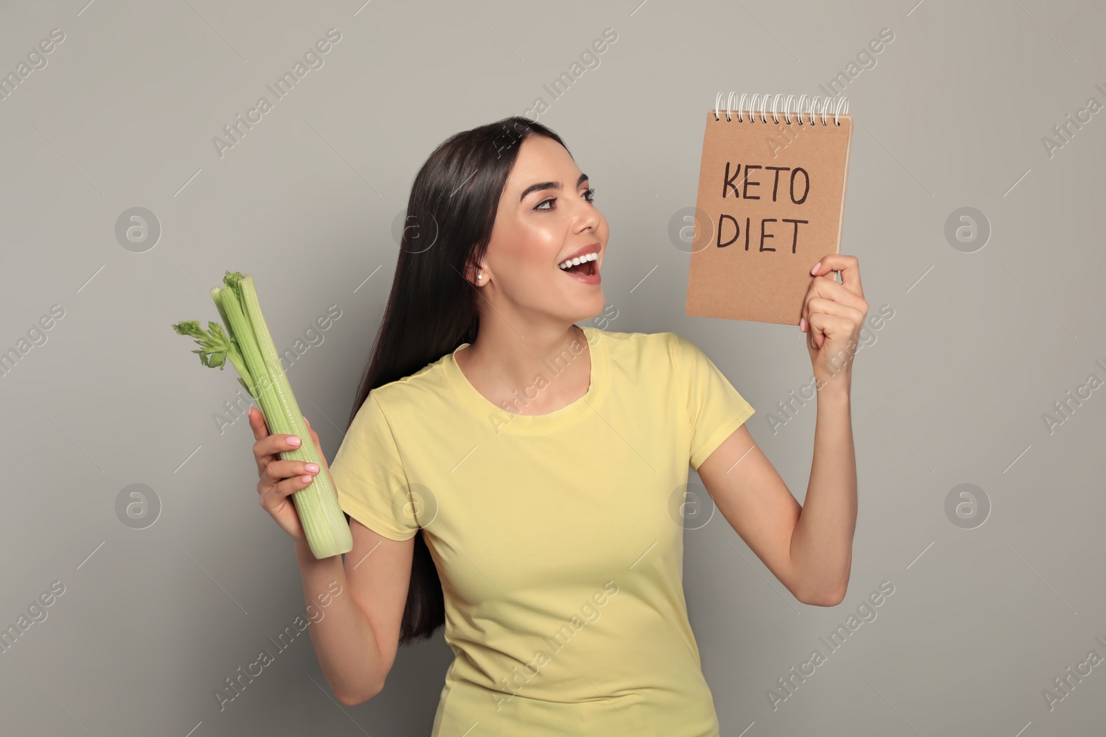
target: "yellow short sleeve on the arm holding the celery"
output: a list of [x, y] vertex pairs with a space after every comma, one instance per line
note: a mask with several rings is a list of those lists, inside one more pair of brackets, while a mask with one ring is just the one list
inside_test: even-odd
[[357, 410], [330, 464], [338, 506], [369, 529], [409, 540], [419, 526], [392, 427], [373, 391]]

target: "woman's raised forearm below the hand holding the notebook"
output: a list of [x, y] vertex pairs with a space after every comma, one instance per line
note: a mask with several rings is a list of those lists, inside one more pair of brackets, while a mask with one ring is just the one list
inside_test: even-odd
[[818, 603], [844, 597], [856, 529], [856, 454], [849, 377], [818, 390], [814, 460], [806, 498], [791, 538], [791, 559]]

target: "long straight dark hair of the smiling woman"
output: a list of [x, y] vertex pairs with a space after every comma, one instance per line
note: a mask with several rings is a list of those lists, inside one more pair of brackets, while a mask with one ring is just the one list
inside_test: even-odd
[[[476, 339], [480, 295], [467, 276], [488, 250], [499, 198], [519, 148], [535, 135], [568, 150], [550, 128], [512, 116], [450, 136], [419, 169], [407, 200], [392, 293], [349, 412], [351, 423], [371, 390], [410, 376]], [[445, 623], [441, 579], [419, 529], [399, 644], [429, 639]]]

